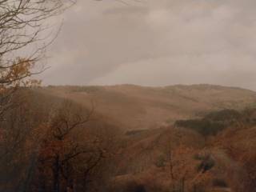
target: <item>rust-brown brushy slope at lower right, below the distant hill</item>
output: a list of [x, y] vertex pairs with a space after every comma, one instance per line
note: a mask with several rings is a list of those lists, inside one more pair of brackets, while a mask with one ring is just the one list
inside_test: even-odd
[[[232, 110], [206, 115], [201, 121], [226, 124], [217, 134], [209, 132], [207, 137], [194, 126], [129, 132], [117, 161], [113, 189], [134, 185], [144, 186], [146, 191], [173, 191], [171, 187], [183, 183], [185, 191], [254, 192], [255, 111], [237, 111], [239, 117], [234, 117]], [[222, 118], [224, 112], [233, 117]]]

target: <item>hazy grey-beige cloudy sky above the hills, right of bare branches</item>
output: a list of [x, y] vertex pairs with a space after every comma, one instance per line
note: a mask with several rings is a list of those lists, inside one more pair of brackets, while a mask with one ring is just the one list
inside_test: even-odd
[[256, 90], [255, 0], [78, 0], [43, 82]]

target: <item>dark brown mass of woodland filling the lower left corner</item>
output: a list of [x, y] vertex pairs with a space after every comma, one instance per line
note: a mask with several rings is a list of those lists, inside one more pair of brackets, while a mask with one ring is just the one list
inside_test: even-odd
[[0, 190], [106, 191], [118, 130], [94, 106], [33, 94], [16, 93], [0, 122]]

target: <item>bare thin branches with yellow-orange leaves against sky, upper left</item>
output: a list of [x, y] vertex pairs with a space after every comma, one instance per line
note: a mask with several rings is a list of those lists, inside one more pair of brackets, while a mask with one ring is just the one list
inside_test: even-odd
[[11, 106], [15, 87], [31, 83], [26, 78], [44, 70], [40, 66], [32, 71], [55, 37], [46, 23], [73, 4], [74, 0], [0, 0], [1, 117]]

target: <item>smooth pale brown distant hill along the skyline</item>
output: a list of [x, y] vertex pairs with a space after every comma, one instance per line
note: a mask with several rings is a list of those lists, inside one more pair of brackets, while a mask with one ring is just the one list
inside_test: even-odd
[[168, 126], [177, 119], [198, 117], [211, 110], [239, 110], [256, 103], [254, 91], [210, 85], [48, 86], [37, 91], [87, 107], [93, 101], [98, 113], [123, 130]]

